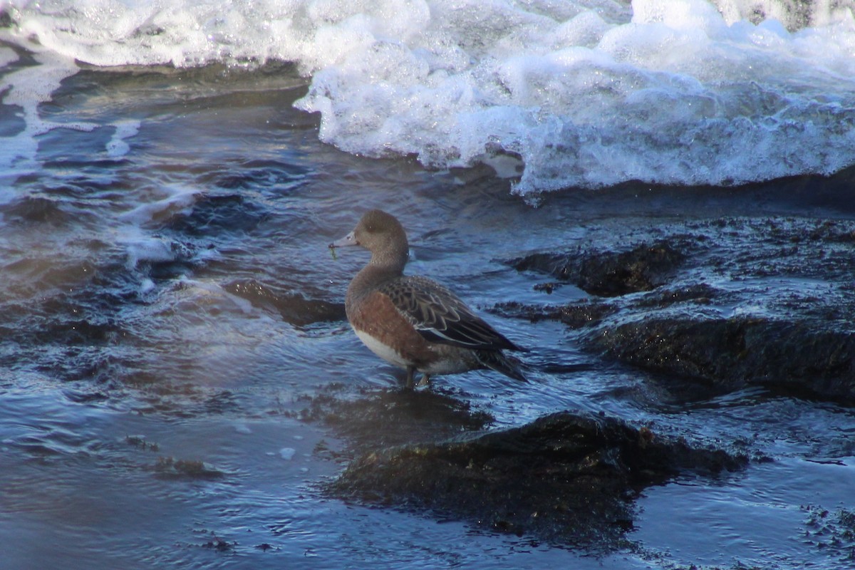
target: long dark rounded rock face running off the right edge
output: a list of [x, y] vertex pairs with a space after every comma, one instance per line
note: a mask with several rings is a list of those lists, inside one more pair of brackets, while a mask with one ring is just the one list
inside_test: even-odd
[[647, 370], [855, 402], [855, 335], [805, 322], [653, 318], [606, 327], [589, 342]]

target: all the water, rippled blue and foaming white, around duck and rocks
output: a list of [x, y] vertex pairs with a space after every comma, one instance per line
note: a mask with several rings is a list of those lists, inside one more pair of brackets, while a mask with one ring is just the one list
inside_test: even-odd
[[[587, 297], [545, 299], [502, 262], [532, 251], [717, 215], [851, 217], [846, 191], [687, 187], [855, 162], [851, 7], [755, 4], [7, 3], [3, 566], [852, 565], [811, 534], [855, 506], [850, 408], [687, 399], [557, 323], [490, 315], [534, 347], [530, 385], [437, 390], [492, 427], [604, 410], [775, 461], [646, 490], [636, 547], [598, 558], [325, 497], [346, 444], [299, 420], [319, 393], [399, 380], [342, 320], [365, 256], [326, 250], [364, 209], [408, 228], [411, 273], [486, 309]], [[603, 188], [634, 179], [675, 186]]]

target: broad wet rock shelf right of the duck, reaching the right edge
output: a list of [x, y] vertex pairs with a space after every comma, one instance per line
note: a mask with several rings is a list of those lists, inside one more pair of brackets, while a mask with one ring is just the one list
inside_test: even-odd
[[[639, 233], [610, 239], [619, 244]], [[851, 221], [719, 218], [652, 226], [646, 233], [649, 245], [624, 253], [536, 253], [509, 261], [521, 271], [569, 276], [593, 297], [498, 310], [560, 320], [577, 331], [571, 342], [604, 361], [722, 390], [764, 385], [855, 402]], [[592, 263], [598, 255], [605, 261]], [[595, 288], [587, 286], [592, 282]]]

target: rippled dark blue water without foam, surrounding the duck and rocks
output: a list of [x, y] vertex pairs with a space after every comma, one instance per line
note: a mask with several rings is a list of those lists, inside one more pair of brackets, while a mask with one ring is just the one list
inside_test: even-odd
[[563, 325], [501, 314], [489, 319], [533, 348], [532, 382], [469, 373], [434, 387], [493, 428], [604, 411], [772, 461], [644, 491], [634, 545], [607, 555], [324, 496], [346, 446], [304, 420], [310, 398], [401, 379], [344, 320], [367, 256], [326, 247], [365, 209], [408, 228], [410, 273], [492, 309], [587, 297], [570, 285], [547, 297], [502, 262], [532, 251], [660, 221], [848, 207], [638, 186], [534, 208], [480, 170], [321, 144], [315, 115], [292, 108], [305, 91], [286, 66], [91, 69], [38, 109], [73, 128], [40, 136], [30, 171], [0, 190], [3, 567], [852, 565], [817, 534], [855, 507], [849, 408], [759, 389], [687, 398], [581, 351]]

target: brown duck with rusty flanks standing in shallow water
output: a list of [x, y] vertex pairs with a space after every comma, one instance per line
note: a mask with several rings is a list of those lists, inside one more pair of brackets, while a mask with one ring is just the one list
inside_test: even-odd
[[472, 312], [436, 281], [404, 275], [410, 253], [407, 234], [391, 214], [373, 209], [330, 249], [359, 245], [371, 261], [347, 288], [347, 320], [374, 354], [407, 371], [407, 387], [435, 374], [492, 368], [525, 381], [502, 350], [523, 350]]

